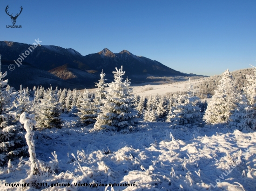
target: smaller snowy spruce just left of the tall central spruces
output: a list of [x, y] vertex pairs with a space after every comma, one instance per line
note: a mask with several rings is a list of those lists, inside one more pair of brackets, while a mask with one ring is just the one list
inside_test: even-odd
[[82, 94], [81, 101], [81, 107], [78, 108], [79, 112], [77, 113], [81, 122], [86, 125], [96, 122], [98, 107], [93, 102], [93, 99], [89, 97], [87, 89], [85, 89], [85, 92]]

